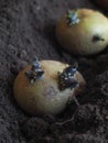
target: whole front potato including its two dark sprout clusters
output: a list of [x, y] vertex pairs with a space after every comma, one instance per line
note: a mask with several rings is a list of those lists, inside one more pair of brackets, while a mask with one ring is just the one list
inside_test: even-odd
[[17, 76], [13, 94], [20, 107], [30, 114], [57, 114], [73, 96], [85, 89], [85, 85], [77, 67], [35, 58]]

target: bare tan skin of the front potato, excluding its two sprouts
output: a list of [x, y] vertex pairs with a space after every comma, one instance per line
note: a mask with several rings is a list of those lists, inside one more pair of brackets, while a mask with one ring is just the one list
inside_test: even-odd
[[74, 94], [84, 90], [86, 81], [77, 72], [76, 79], [80, 84], [79, 89], [58, 89], [58, 72], [63, 72], [65, 64], [55, 61], [42, 61], [41, 65], [45, 72], [43, 79], [30, 84], [25, 72], [31, 69], [26, 66], [14, 80], [13, 95], [20, 107], [29, 114], [52, 113], [57, 114], [64, 110], [66, 103]]

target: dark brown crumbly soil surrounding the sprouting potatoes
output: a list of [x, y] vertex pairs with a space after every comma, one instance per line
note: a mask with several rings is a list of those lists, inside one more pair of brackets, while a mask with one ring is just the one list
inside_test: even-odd
[[[97, 9], [89, 0], [0, 1], [0, 143], [108, 143], [108, 51], [75, 57], [55, 37], [58, 19], [73, 8]], [[57, 117], [31, 117], [18, 106], [14, 78], [35, 55], [78, 63], [87, 81], [79, 106], [73, 100]]]

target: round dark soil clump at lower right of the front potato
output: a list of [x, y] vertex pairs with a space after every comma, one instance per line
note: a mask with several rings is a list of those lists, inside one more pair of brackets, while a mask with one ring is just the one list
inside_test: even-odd
[[96, 130], [99, 125], [102, 125], [102, 117], [100, 116], [99, 108], [97, 106], [82, 106], [74, 116], [75, 131], [82, 133], [93, 130], [93, 128]]

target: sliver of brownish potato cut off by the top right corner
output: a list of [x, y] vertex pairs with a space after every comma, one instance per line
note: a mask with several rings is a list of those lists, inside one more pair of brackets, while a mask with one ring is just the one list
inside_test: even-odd
[[108, 0], [94, 0], [94, 2], [104, 10], [108, 10]]

